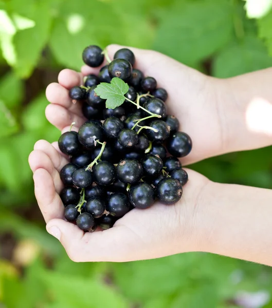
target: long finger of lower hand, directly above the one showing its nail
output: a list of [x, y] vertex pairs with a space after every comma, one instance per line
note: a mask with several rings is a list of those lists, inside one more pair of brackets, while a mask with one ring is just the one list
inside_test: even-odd
[[45, 222], [53, 218], [63, 218], [64, 206], [49, 172], [43, 168], [37, 169], [33, 174], [33, 180], [35, 197]]

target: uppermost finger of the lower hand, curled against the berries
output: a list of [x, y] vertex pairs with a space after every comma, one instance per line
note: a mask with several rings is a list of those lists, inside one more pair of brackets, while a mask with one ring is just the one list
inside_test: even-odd
[[68, 164], [67, 158], [61, 155], [62, 152], [58, 151], [51, 143], [46, 140], [37, 141], [34, 144], [34, 150], [41, 150], [45, 152], [46, 155], [50, 158], [55, 169], [58, 171], [60, 171], [64, 165]]

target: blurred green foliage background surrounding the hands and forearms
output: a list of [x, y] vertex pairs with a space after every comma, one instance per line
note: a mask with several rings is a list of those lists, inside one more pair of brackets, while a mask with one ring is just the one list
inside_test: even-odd
[[[73, 263], [46, 233], [27, 162], [35, 141], [60, 136], [45, 119], [45, 88], [80, 68], [84, 47], [111, 43], [219, 78], [270, 67], [272, 0], [0, 0], [0, 307], [271, 308], [267, 266], [204, 253]], [[192, 168], [272, 188], [271, 148]]]

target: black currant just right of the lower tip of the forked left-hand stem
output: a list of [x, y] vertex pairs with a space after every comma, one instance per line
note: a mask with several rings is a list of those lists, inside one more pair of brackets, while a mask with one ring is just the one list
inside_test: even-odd
[[116, 178], [115, 166], [107, 161], [101, 161], [93, 167], [95, 182], [99, 185], [110, 185]]

